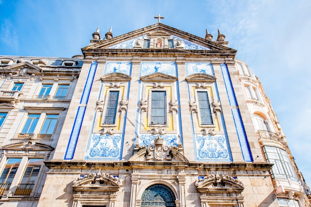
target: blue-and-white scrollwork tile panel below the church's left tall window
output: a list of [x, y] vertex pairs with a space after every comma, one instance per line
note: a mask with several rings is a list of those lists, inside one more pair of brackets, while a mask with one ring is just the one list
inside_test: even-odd
[[88, 140], [84, 160], [119, 160], [122, 134], [92, 134]]

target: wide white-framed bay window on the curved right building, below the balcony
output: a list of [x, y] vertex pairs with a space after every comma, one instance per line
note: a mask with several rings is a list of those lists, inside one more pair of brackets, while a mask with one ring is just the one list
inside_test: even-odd
[[264, 146], [263, 152], [269, 163], [273, 163], [272, 177], [285, 178], [297, 181], [297, 177], [288, 154], [280, 148]]

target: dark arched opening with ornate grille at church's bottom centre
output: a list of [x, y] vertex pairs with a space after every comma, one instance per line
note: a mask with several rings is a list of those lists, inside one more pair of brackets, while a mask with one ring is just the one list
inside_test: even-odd
[[165, 185], [149, 186], [142, 195], [141, 207], [175, 207], [175, 195]]

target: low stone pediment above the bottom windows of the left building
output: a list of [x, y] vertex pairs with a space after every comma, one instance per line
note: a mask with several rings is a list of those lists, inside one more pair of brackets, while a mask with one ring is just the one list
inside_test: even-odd
[[18, 142], [18, 143], [13, 143], [13, 144], [9, 144], [9, 145], [4, 145], [1, 147], [2, 150], [31, 150], [31, 151], [52, 151], [54, 150], [53, 147], [46, 145], [46, 144], [42, 144], [39, 142], [32, 142], [32, 141], [28, 141], [28, 142]]

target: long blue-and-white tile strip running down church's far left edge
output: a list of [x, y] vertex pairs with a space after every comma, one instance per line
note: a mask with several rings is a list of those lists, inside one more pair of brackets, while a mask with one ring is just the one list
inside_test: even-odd
[[[88, 70], [84, 89], [83, 89], [82, 96], [80, 99], [80, 104], [87, 104], [89, 93], [91, 91], [92, 83], [94, 80], [96, 68], [97, 68], [97, 62], [93, 61], [89, 70]], [[75, 117], [74, 126], [73, 126], [73, 129], [72, 129], [71, 134], [70, 134], [70, 138], [68, 141], [68, 145], [67, 145], [67, 149], [65, 152], [64, 159], [72, 159], [74, 157], [85, 109], [86, 109], [86, 106], [79, 106], [78, 107], [78, 111], [77, 111], [77, 114]]]

